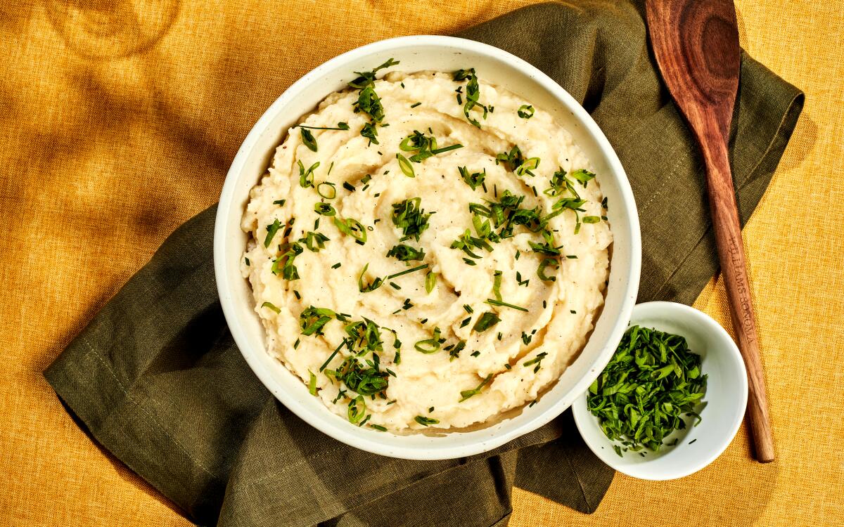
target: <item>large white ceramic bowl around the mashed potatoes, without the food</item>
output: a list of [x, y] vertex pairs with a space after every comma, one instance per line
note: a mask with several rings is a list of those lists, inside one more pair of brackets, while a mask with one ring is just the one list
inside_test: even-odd
[[[551, 50], [549, 50], [550, 52]], [[300, 116], [354, 78], [355, 71], [395, 58], [396, 70], [451, 72], [474, 67], [480, 78], [498, 84], [549, 111], [565, 126], [592, 161], [609, 198], [614, 246], [606, 303], [586, 348], [530, 408], [511, 411], [482, 428], [441, 434], [396, 435], [351, 426], [308, 394], [300, 379], [265, 349], [264, 330], [254, 310], [252, 291], [241, 277], [246, 246], [241, 215], [249, 190], [263, 175], [285, 132]], [[329, 436], [359, 449], [399, 458], [439, 460], [479, 454], [549, 422], [586, 390], [609, 361], [636, 303], [641, 239], [630, 184], [607, 138], [576, 100], [547, 75], [498, 48], [446, 36], [407, 36], [362, 46], [317, 67], [294, 83], [261, 116], [246, 136], [226, 176], [214, 227], [214, 272], [220, 303], [232, 336], [258, 379], [297, 416]]]

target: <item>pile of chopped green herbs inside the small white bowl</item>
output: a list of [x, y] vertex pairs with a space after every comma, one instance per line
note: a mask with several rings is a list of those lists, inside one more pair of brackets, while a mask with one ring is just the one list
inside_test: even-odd
[[683, 416], [701, 422], [696, 409], [705, 392], [701, 356], [684, 337], [634, 325], [589, 387], [587, 408], [625, 450], [657, 451], [668, 434], [686, 428]]

